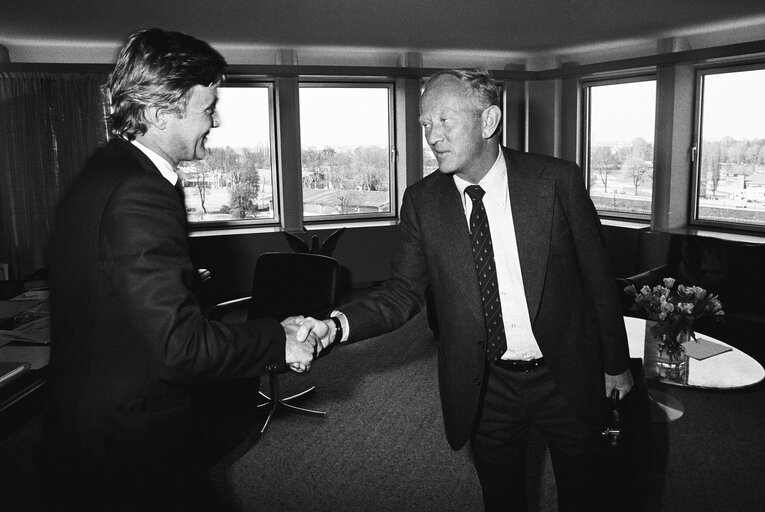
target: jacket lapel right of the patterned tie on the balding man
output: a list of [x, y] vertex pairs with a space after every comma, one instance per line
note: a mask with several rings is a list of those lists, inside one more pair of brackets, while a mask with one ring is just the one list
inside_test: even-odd
[[555, 183], [542, 178], [543, 167], [524, 165], [505, 149], [507, 183], [523, 287], [532, 323], [542, 299], [555, 201]]

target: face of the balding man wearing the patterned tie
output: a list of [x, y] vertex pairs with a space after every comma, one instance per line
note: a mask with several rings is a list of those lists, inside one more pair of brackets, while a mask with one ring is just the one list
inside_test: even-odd
[[456, 77], [443, 76], [428, 84], [420, 99], [420, 124], [439, 171], [473, 182], [470, 177], [476, 175], [486, 147], [481, 112], [469, 86]]

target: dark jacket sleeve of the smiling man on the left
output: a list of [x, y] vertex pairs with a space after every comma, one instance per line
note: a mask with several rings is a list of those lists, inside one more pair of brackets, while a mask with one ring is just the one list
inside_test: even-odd
[[132, 175], [107, 203], [101, 226], [102, 264], [160, 378], [198, 382], [284, 369], [279, 322], [208, 321], [192, 293], [185, 212], [159, 175]]

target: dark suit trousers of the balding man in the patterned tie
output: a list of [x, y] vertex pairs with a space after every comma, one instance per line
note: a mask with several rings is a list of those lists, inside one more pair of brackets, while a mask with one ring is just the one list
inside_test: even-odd
[[558, 510], [595, 510], [595, 433], [576, 415], [547, 366], [517, 372], [491, 363], [483, 406], [471, 438], [487, 512], [526, 511], [526, 450], [530, 427], [550, 451]]

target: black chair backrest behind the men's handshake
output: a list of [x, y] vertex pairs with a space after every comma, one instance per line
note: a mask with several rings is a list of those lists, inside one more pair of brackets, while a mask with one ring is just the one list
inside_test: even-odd
[[247, 317], [283, 320], [288, 316], [321, 316], [335, 306], [337, 260], [320, 254], [261, 254], [252, 277]]

